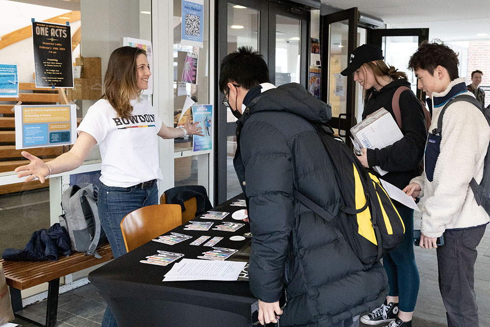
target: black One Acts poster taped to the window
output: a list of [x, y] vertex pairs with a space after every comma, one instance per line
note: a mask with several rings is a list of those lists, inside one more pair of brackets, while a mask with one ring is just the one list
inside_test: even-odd
[[32, 22], [36, 87], [73, 88], [69, 25]]

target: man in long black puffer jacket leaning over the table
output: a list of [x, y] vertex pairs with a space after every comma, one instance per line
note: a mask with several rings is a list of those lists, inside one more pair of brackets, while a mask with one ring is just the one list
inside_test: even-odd
[[[330, 106], [290, 83], [275, 88], [262, 57], [240, 48], [221, 63], [220, 88], [237, 122], [234, 165], [253, 234], [250, 289], [259, 320], [281, 327], [350, 327], [387, 295], [380, 263], [366, 268], [339, 229], [293, 198], [293, 189], [334, 216], [340, 191], [313, 126]], [[279, 307], [283, 288], [287, 306]]]

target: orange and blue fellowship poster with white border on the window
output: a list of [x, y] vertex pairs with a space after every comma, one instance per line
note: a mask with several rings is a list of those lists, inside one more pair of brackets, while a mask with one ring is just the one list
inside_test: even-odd
[[75, 110], [75, 104], [16, 105], [15, 149], [75, 143]]

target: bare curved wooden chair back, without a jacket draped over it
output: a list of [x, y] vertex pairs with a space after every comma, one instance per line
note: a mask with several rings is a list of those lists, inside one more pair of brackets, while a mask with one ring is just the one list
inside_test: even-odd
[[182, 224], [178, 204], [148, 205], [130, 212], [121, 221], [126, 251], [136, 249], [149, 240]]

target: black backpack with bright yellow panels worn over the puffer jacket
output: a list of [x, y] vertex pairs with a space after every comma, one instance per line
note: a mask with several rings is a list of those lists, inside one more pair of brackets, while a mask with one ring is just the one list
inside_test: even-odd
[[362, 166], [342, 139], [334, 136], [332, 128], [313, 126], [335, 168], [341, 209], [334, 217], [297, 190], [294, 197], [337, 226], [359, 260], [370, 266], [403, 241], [403, 221], [379, 179]]

